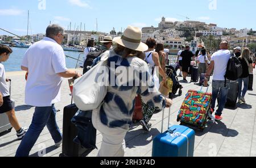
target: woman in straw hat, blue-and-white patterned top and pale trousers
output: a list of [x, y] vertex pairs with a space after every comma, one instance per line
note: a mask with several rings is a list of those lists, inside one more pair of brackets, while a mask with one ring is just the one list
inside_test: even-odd
[[[141, 42], [141, 37], [141, 29], [129, 26], [122, 37], [113, 39], [117, 46], [109, 53], [110, 86], [104, 104], [94, 110], [92, 116], [93, 126], [102, 134], [102, 144], [98, 152], [100, 157], [125, 155], [125, 135], [132, 123], [137, 94], [141, 94], [142, 100], [147, 104], [160, 109], [172, 105], [172, 100], [164, 98], [154, 87], [147, 63], [137, 57], [148, 49]], [[121, 73], [118, 71], [120, 68], [126, 72]], [[114, 76], [114, 80], [111, 76]], [[139, 85], [136, 84], [137, 81]]]

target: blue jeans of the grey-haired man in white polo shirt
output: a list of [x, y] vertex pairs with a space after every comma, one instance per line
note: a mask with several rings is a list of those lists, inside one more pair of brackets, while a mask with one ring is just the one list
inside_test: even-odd
[[30, 150], [45, 126], [47, 126], [55, 143], [59, 143], [62, 140], [62, 134], [56, 123], [56, 109], [54, 105], [35, 107], [32, 123], [16, 151], [16, 157], [27, 157], [29, 155]]

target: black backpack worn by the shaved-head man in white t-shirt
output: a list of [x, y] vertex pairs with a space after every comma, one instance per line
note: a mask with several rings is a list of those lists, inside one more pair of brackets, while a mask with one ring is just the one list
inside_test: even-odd
[[237, 80], [243, 73], [243, 68], [241, 62], [237, 57], [230, 57], [228, 66], [226, 68], [225, 79]]

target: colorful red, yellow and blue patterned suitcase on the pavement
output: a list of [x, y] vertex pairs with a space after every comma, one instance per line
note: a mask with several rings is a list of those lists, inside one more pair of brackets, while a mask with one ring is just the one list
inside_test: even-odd
[[188, 91], [177, 116], [177, 122], [197, 127], [201, 131], [204, 130], [209, 116], [214, 122], [214, 118], [210, 114], [212, 93], [202, 92], [202, 89], [203, 87], [201, 87], [201, 91]]

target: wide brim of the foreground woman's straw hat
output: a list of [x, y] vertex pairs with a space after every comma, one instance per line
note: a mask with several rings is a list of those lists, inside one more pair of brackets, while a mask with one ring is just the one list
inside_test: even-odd
[[124, 46], [128, 49], [135, 50], [135, 51], [146, 51], [148, 50], [148, 46], [144, 44], [143, 42], [138, 43], [133, 43], [129, 41], [123, 40], [121, 37], [115, 37], [113, 39], [113, 42], [116, 42], [117, 44]]

